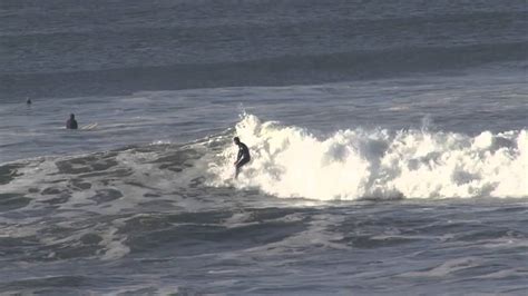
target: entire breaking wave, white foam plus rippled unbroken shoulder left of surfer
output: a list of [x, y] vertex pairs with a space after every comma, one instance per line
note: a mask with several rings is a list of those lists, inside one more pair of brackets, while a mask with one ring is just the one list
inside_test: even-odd
[[[252, 152], [236, 181], [235, 135]], [[185, 145], [3, 164], [0, 210], [53, 205], [115, 214], [153, 197], [170, 204], [183, 198], [179, 206], [199, 208], [207, 198], [217, 198], [218, 190], [226, 200], [236, 199], [233, 189], [315, 200], [528, 197], [526, 176], [526, 129], [471, 137], [355, 128], [316, 136], [244, 115], [234, 129]]]

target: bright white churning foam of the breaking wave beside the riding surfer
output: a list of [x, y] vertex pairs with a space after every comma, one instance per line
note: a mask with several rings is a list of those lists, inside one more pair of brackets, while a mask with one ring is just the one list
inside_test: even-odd
[[[245, 116], [236, 135], [252, 162], [235, 186], [280, 197], [320, 200], [528, 196], [526, 129], [476, 137], [387, 129], [339, 130], [315, 137], [299, 127]], [[211, 170], [216, 186], [232, 184], [234, 150]]]

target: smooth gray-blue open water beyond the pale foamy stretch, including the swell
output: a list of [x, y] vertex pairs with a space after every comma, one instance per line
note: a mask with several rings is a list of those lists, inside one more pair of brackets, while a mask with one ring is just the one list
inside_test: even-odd
[[[290, 86], [526, 69], [526, 1], [11, 1], [0, 93]], [[510, 67], [506, 69], [509, 71]]]

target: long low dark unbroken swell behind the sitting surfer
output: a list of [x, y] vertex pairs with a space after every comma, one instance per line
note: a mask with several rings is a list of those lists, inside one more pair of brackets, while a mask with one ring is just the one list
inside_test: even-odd
[[510, 72], [525, 62], [527, 47], [526, 41], [511, 41], [449, 48], [398, 47], [282, 55], [211, 63], [0, 72], [0, 80], [10, 81], [0, 85], [0, 92], [7, 98], [25, 97], [28, 92], [38, 92], [41, 97], [85, 97], [129, 95], [145, 90], [313, 85], [438, 73], [489, 65], [508, 65], [505, 69]]

